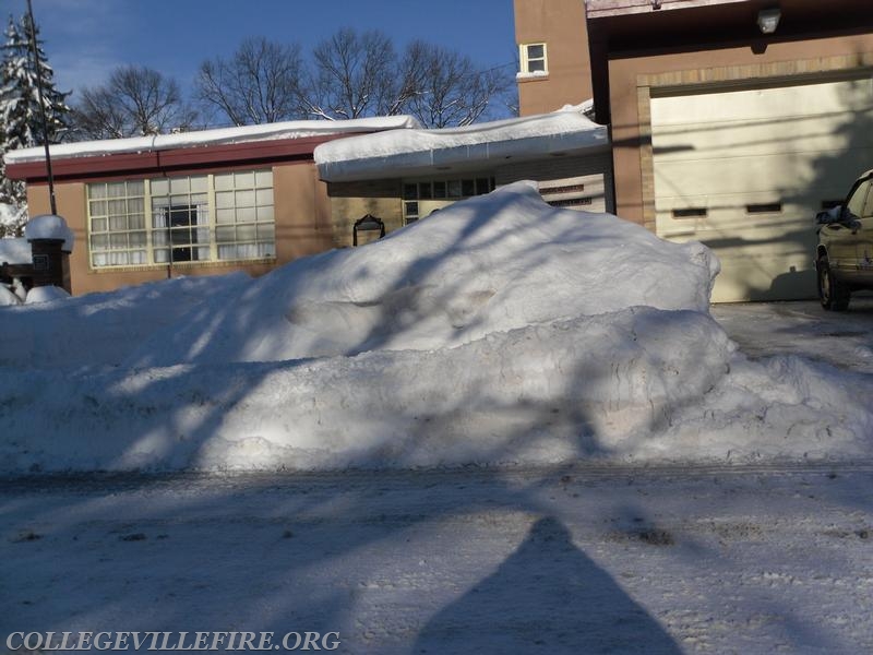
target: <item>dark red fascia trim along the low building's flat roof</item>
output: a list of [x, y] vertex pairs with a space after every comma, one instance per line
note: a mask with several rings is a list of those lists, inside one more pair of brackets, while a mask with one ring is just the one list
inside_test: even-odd
[[[75, 182], [95, 178], [145, 177], [282, 162], [306, 163], [313, 160], [312, 153], [315, 146], [334, 139], [351, 135], [352, 133], [343, 133], [306, 139], [277, 139], [251, 143], [59, 158], [51, 160], [51, 171], [56, 181]], [[14, 180], [25, 180], [28, 183], [46, 182], [48, 179], [45, 160], [9, 164], [7, 176]]]

